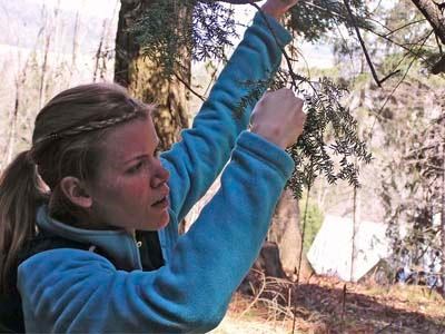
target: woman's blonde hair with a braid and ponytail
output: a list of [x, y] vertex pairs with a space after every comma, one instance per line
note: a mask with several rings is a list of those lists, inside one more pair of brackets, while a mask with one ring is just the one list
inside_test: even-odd
[[12, 288], [9, 277], [17, 271], [18, 254], [36, 236], [37, 208], [51, 198], [52, 216], [75, 219], [78, 208], [63, 196], [60, 180], [93, 178], [99, 139], [118, 124], [147, 117], [148, 110], [115, 84], [65, 90], [40, 110], [31, 149], [19, 154], [0, 177], [0, 292]]

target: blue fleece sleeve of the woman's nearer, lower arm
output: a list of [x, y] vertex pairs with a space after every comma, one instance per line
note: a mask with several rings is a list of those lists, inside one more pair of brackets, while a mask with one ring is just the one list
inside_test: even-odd
[[158, 271], [116, 271], [106, 258], [79, 249], [27, 259], [18, 273], [27, 332], [211, 330], [258, 255], [293, 167], [284, 150], [243, 132], [221, 188]]

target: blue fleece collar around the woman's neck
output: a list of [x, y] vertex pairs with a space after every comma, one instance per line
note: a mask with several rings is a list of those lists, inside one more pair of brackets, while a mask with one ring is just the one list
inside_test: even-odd
[[118, 267], [126, 271], [141, 269], [135, 238], [126, 230], [92, 230], [69, 226], [49, 216], [48, 206], [37, 212], [37, 226], [57, 236], [100, 247]]

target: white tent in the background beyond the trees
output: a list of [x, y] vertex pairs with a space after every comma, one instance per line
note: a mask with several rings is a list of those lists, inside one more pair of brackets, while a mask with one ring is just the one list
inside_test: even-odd
[[329, 215], [325, 217], [307, 254], [317, 274], [356, 282], [388, 255], [384, 224], [362, 220], [356, 225], [353, 262], [353, 219]]

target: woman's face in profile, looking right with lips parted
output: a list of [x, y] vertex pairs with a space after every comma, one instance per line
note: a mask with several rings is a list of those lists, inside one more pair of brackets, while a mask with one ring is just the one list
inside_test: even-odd
[[158, 144], [150, 116], [107, 134], [89, 189], [95, 225], [157, 230], [168, 224], [169, 173], [157, 157]]

